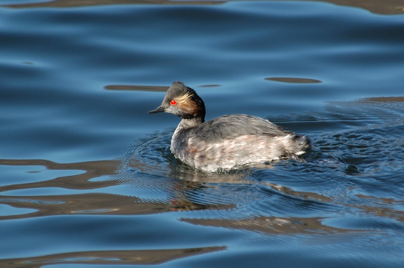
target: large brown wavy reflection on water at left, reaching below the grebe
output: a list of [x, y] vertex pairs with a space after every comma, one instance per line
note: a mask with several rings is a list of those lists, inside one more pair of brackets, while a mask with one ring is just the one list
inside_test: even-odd
[[[36, 211], [29, 214], [2, 216], [0, 217], [2, 220], [65, 215], [71, 213], [137, 215], [161, 213], [163, 211], [173, 210], [206, 209], [205, 206], [194, 204], [184, 197], [187, 195], [188, 191], [203, 187], [199, 184], [189, 183], [187, 181], [178, 181], [167, 185], [165, 190], [171, 194], [172, 199], [169, 201], [166, 200], [166, 202], [159, 200], [144, 200], [136, 196], [125, 196], [120, 194], [85, 192], [85, 190], [108, 188], [122, 183], [134, 183], [133, 181], [130, 181], [130, 177], [125, 178], [125, 175], [123, 174], [117, 175], [116, 178], [112, 176], [113, 174], [119, 172], [119, 169], [121, 168], [121, 161], [118, 160], [69, 164], [58, 164], [45, 160], [0, 160], [0, 165], [43, 165], [47, 169], [53, 170], [60, 169], [86, 171], [83, 174], [74, 176], [58, 177], [51, 180], [12, 184], [0, 187], [0, 191], [5, 194], [3, 195], [3, 198], [0, 198], [1, 204], [18, 209], [31, 209]], [[142, 165], [131, 168], [141, 169]], [[110, 176], [110, 178], [107, 180], [91, 180], [93, 178], [102, 178], [104, 176]], [[131, 176], [131, 174], [129, 174], [129, 176]], [[147, 185], [147, 183], [144, 183], [142, 186], [144, 185]], [[148, 187], [153, 187], [153, 185], [148, 185]], [[33, 196], [26, 194], [13, 195], [13, 192], [24, 193], [22, 190], [35, 188], [75, 189], [83, 191], [83, 193]], [[211, 206], [211, 208], [218, 209], [218, 206]]]

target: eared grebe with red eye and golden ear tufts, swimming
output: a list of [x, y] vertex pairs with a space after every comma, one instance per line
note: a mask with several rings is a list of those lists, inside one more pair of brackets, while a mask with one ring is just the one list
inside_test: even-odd
[[171, 139], [175, 157], [208, 172], [297, 158], [310, 147], [305, 136], [256, 116], [230, 114], [205, 122], [204, 101], [181, 82], [174, 82], [161, 106], [148, 113], [158, 112], [182, 118]]

